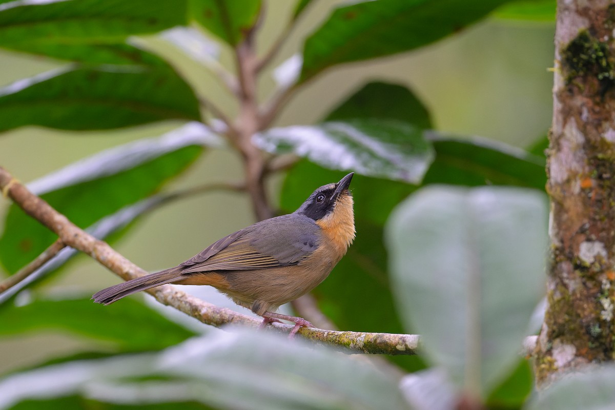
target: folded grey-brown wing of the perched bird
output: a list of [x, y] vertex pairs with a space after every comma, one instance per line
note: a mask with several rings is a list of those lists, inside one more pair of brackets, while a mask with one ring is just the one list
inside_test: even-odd
[[181, 264], [183, 273], [264, 269], [296, 264], [317, 249], [320, 227], [306, 216], [290, 214], [234, 232]]

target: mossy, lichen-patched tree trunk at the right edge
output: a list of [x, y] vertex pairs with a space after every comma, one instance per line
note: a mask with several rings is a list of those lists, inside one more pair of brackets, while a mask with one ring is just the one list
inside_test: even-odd
[[558, 1], [547, 152], [549, 306], [535, 351], [539, 386], [614, 357], [614, 28], [611, 1]]

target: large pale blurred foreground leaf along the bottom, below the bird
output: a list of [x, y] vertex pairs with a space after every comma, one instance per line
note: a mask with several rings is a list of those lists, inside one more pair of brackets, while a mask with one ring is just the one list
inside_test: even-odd
[[0, 380], [0, 408], [69, 395], [133, 405], [197, 401], [232, 409], [408, 408], [397, 380], [367, 363], [245, 330], [214, 331], [161, 353], [75, 361]]

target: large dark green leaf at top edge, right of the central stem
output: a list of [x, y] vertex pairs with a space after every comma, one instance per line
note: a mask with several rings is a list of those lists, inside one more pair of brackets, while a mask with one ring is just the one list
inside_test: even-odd
[[340, 63], [384, 57], [453, 34], [507, 0], [387, 0], [335, 9], [305, 42], [304, 82]]

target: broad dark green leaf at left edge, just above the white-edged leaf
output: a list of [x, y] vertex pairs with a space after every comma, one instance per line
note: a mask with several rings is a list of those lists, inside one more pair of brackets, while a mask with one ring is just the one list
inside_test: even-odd
[[167, 68], [51, 71], [0, 90], [0, 131], [24, 125], [104, 130], [167, 119], [200, 119], [194, 92]]

